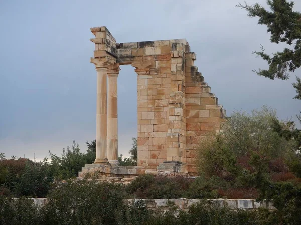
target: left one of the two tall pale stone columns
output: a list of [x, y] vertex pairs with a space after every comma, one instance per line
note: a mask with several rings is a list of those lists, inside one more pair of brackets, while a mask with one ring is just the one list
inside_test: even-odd
[[105, 64], [96, 64], [96, 164], [107, 164], [107, 70]]

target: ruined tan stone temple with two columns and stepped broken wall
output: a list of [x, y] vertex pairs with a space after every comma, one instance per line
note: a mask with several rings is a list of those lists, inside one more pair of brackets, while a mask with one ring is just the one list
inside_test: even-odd
[[130, 64], [138, 93], [138, 166], [130, 173], [193, 173], [200, 138], [220, 130], [225, 110], [194, 66], [196, 54], [186, 39], [116, 43], [105, 26], [91, 31], [91, 62], [97, 71], [96, 160], [86, 167], [126, 173], [117, 166], [117, 77], [119, 66]]

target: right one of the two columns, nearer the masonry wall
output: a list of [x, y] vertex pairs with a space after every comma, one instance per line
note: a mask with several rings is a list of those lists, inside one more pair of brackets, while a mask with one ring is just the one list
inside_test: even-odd
[[118, 164], [118, 119], [117, 119], [117, 77], [119, 63], [109, 66], [108, 74], [108, 159], [110, 164]]

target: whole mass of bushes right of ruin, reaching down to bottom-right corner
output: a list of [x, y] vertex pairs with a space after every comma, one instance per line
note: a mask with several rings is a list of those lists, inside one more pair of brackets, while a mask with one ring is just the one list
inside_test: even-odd
[[218, 178], [222, 191], [257, 190], [258, 200], [273, 200], [285, 224], [301, 222], [300, 140], [294, 123], [267, 107], [234, 112], [223, 132], [200, 141], [197, 167], [205, 180]]

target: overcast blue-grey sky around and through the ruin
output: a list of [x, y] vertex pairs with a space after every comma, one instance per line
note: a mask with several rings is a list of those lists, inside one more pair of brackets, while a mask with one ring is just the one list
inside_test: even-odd
[[[75, 140], [95, 139], [96, 71], [90, 27], [106, 26], [117, 42], [186, 38], [195, 64], [230, 115], [262, 105], [293, 118], [301, 101], [287, 81], [259, 77], [267, 68], [253, 50], [269, 42], [265, 26], [234, 7], [239, 0], [0, 0], [0, 152], [33, 159], [58, 155]], [[240, 2], [243, 2], [241, 0]], [[247, 0], [265, 5], [265, 0]], [[301, 11], [301, 2], [294, 9]], [[127, 155], [137, 127], [136, 74], [118, 77], [119, 153]]]

